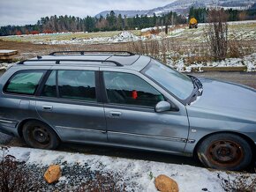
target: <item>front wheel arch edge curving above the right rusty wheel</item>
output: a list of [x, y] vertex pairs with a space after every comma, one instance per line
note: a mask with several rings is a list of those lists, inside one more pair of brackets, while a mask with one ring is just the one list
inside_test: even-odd
[[193, 157], [197, 157], [197, 151], [198, 151], [198, 148], [200, 146], [200, 144], [205, 140], [207, 139], [207, 137], [211, 137], [211, 136], [214, 136], [216, 134], [222, 134], [222, 133], [229, 133], [229, 134], [234, 134], [238, 137], [242, 137], [245, 139], [245, 141], [250, 145], [251, 149], [252, 149], [252, 158], [255, 159], [256, 158], [256, 154], [254, 154], [253, 151], [256, 151], [256, 145], [254, 144], [254, 142], [252, 141], [252, 139], [248, 136], [246, 136], [245, 134], [242, 134], [242, 133], [239, 133], [239, 132], [234, 132], [234, 131], [218, 131], [218, 132], [214, 132], [214, 133], [210, 133], [210, 134], [207, 134], [206, 136], [204, 137], [201, 137], [199, 142], [195, 145], [194, 149], [193, 149]]

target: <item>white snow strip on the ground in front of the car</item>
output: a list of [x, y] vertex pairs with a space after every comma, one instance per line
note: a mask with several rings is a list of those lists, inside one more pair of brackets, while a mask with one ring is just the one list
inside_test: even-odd
[[[0, 151], [0, 156], [1, 156]], [[127, 191], [157, 191], [154, 187], [154, 177], [166, 174], [177, 181], [180, 191], [223, 191], [217, 175], [226, 178], [227, 174], [221, 171], [208, 170], [195, 166], [159, 163], [154, 161], [111, 158], [107, 156], [85, 155], [62, 151], [44, 151], [29, 148], [11, 147], [8, 154], [15, 156], [26, 165], [49, 166], [59, 165], [86, 165], [91, 171], [100, 171], [105, 174], [118, 175], [119, 182], [124, 182]], [[64, 168], [64, 166], [62, 166]], [[150, 176], [153, 175], [153, 178]], [[256, 177], [256, 174], [251, 174]], [[232, 174], [231, 177], [235, 177]], [[40, 178], [39, 178], [40, 179]], [[232, 178], [231, 178], [232, 179]], [[69, 181], [68, 175], [63, 175], [59, 182]], [[119, 183], [124, 185], [124, 183]]]

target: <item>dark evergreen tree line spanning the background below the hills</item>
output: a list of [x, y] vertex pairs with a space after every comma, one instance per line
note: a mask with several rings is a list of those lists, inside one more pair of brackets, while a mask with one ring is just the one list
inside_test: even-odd
[[[189, 10], [189, 18], [195, 17], [200, 23], [207, 22], [208, 9], [194, 8]], [[255, 19], [255, 10], [237, 11], [226, 10], [229, 21]], [[142, 29], [153, 26], [169, 26], [177, 24], [185, 24], [188, 18], [179, 15], [176, 12], [169, 12], [162, 16], [152, 17], [147, 15], [135, 16], [133, 18], [122, 17], [121, 14], [116, 15], [114, 11], [110, 11], [104, 18], [87, 16], [79, 18], [74, 16], [51, 16], [41, 18], [35, 25], [26, 26], [1, 26], [0, 36], [20, 35], [20, 34], [37, 34], [37, 33], [63, 33], [63, 32], [99, 32], [99, 31], [117, 31], [117, 30], [133, 30]]]

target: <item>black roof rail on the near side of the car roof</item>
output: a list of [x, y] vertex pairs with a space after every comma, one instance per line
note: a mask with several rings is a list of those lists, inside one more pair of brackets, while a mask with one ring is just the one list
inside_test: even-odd
[[114, 63], [118, 67], [123, 67], [124, 65], [116, 61], [110, 60], [87, 60], [87, 59], [40, 59], [40, 60], [24, 60], [18, 64], [24, 64], [26, 62], [55, 62], [56, 64], [61, 64], [61, 62], [92, 62], [92, 63]]

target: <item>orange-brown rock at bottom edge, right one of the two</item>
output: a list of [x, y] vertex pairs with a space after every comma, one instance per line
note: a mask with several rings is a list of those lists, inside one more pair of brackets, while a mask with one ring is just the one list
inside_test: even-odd
[[177, 182], [164, 174], [155, 178], [154, 185], [161, 192], [178, 192]]

